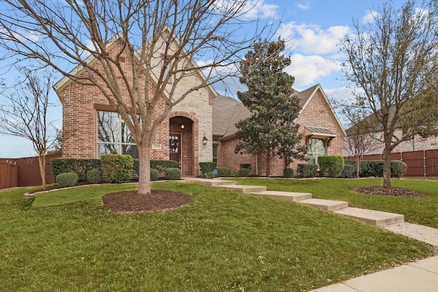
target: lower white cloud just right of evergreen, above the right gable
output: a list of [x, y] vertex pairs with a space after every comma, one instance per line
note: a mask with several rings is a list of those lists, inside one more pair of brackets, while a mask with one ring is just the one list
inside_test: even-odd
[[339, 72], [341, 66], [334, 61], [324, 59], [318, 55], [295, 54], [291, 57], [292, 64], [285, 69], [285, 72], [295, 77], [294, 88], [303, 88], [314, 85], [316, 80]]

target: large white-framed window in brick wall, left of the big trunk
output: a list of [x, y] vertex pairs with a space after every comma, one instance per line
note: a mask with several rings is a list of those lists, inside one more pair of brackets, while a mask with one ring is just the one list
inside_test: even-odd
[[[140, 116], [137, 116], [140, 120]], [[117, 113], [97, 111], [97, 146], [99, 157], [104, 154], [129, 154], [138, 159], [136, 141]]]

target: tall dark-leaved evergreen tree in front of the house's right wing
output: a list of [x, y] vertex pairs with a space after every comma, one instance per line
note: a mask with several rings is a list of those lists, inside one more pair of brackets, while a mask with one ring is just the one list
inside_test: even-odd
[[266, 176], [270, 176], [274, 156], [285, 158], [289, 165], [292, 158], [304, 159], [306, 151], [304, 146], [297, 146], [302, 137], [294, 121], [300, 101], [292, 89], [294, 77], [283, 72], [291, 62], [290, 57], [282, 55], [284, 49], [284, 40], [259, 40], [240, 65], [240, 83], [248, 90], [237, 92], [237, 96], [252, 116], [236, 124], [240, 142], [235, 152], [261, 155], [266, 161]]

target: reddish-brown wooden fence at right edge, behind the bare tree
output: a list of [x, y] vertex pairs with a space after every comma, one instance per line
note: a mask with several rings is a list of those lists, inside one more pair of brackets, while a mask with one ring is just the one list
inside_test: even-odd
[[[354, 160], [355, 157], [346, 159]], [[361, 160], [383, 160], [383, 155], [363, 155]], [[391, 153], [391, 160], [401, 160], [408, 165], [404, 176], [438, 176], [438, 149]]]

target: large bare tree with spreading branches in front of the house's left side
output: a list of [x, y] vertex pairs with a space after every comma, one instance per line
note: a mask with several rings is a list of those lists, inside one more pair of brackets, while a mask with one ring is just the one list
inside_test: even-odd
[[[246, 18], [253, 9], [251, 3], [5, 0], [0, 12], [0, 46], [8, 50], [4, 57], [37, 58], [77, 83], [97, 86], [136, 141], [138, 192], [149, 194], [150, 152], [159, 124], [190, 92], [230, 76], [229, 68], [259, 38], [260, 29], [268, 29]], [[107, 47], [114, 40], [118, 42], [115, 54]], [[90, 63], [90, 58], [97, 59], [99, 66]], [[122, 58], [130, 62], [128, 69]], [[196, 66], [194, 59], [204, 62]], [[66, 70], [77, 64], [80, 67], [74, 72], [80, 69], [81, 74]], [[201, 71], [207, 78], [179, 90], [181, 81]]]

